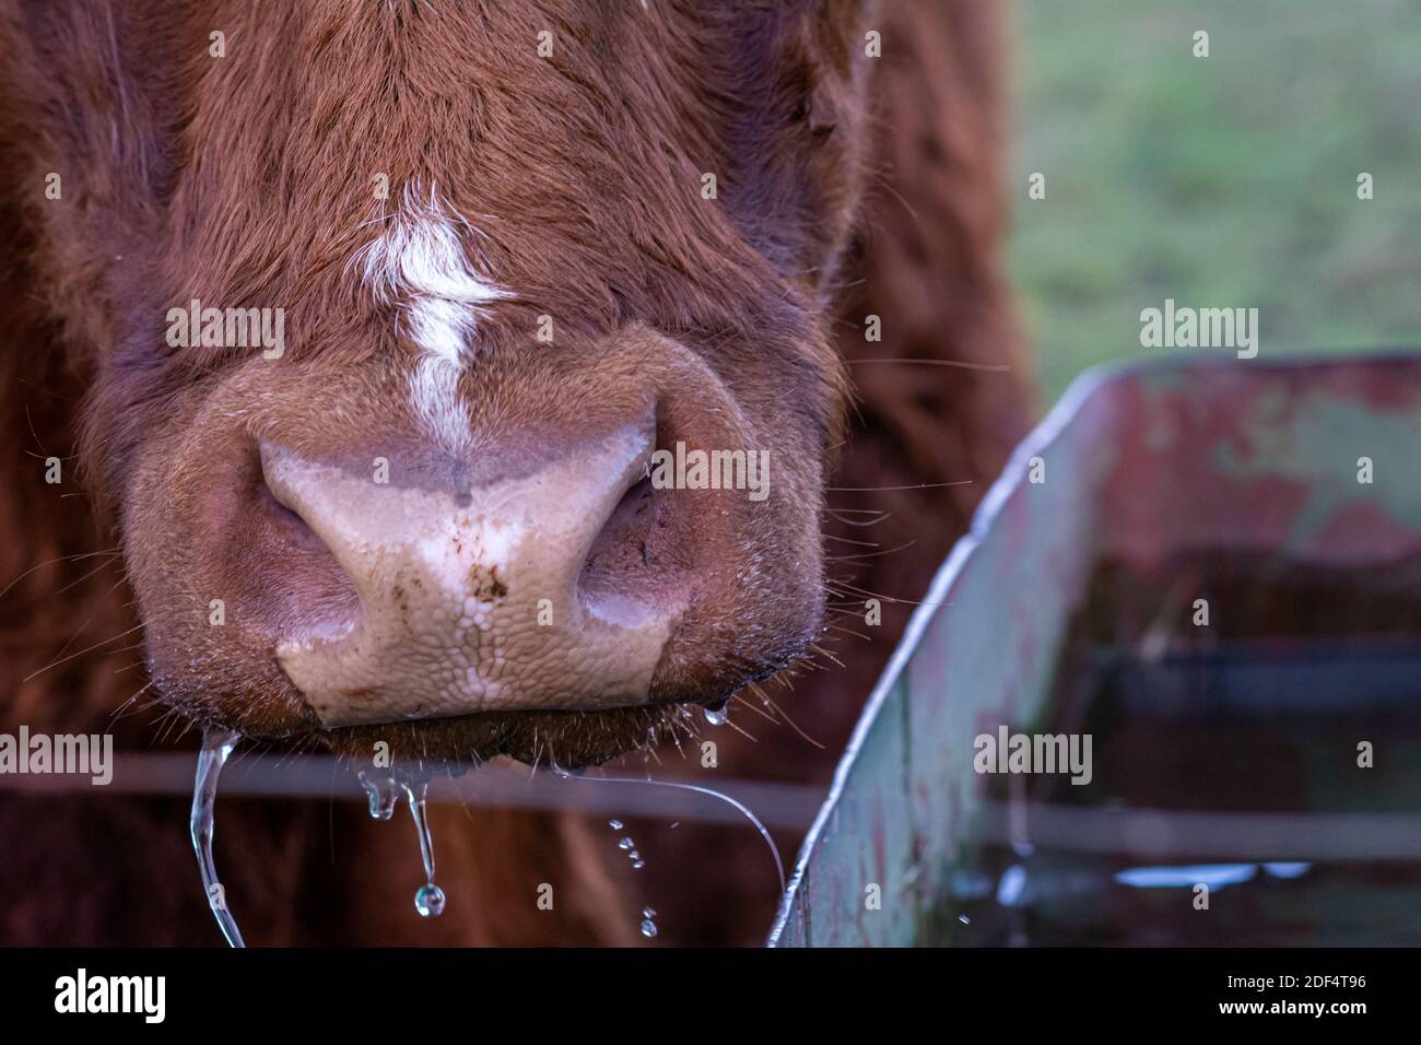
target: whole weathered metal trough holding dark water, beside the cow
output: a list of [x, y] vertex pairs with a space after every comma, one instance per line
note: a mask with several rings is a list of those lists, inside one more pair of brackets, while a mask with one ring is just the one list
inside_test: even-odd
[[[1417, 355], [1083, 375], [1017, 448], [912, 617], [769, 944], [1049, 943], [1064, 923], [1073, 941], [1239, 944], [1279, 921], [1296, 933], [1268, 941], [1380, 941], [1344, 890], [1319, 900], [1292, 883], [1333, 862], [1390, 867], [1390, 891], [1364, 890], [1366, 910], [1410, 926], [1397, 931], [1415, 943], [1421, 781], [1395, 763], [1421, 766], [1417, 563]], [[1253, 606], [1241, 593], [1258, 590], [1259, 570], [1282, 586]], [[1358, 603], [1376, 627], [1314, 624], [1327, 614], [1309, 606], [1341, 599], [1327, 594], [1334, 577], [1385, 589]], [[1162, 594], [1141, 594], [1152, 584]], [[1202, 626], [1198, 599], [1212, 613]], [[1336, 616], [1366, 614], [1339, 604]], [[1096, 738], [1090, 786], [973, 768], [975, 738], [1003, 725], [1101, 722], [1111, 732]], [[1185, 739], [1175, 751], [1161, 735]], [[1370, 772], [1363, 741], [1378, 746]], [[1185, 749], [1202, 763], [1182, 762]], [[1005, 857], [983, 864], [985, 849]], [[1033, 864], [1043, 850], [1056, 854], [1047, 874]], [[1086, 870], [1063, 874], [1063, 859]], [[1196, 886], [1182, 900], [1115, 896], [1169, 869], [1212, 881], [1218, 917], [1167, 931], [1196, 910]], [[1266, 894], [1229, 913], [1242, 893], [1225, 887], [1248, 879]], [[1033, 904], [1023, 889], [1037, 890]], [[1002, 931], [973, 937], [983, 918]]]

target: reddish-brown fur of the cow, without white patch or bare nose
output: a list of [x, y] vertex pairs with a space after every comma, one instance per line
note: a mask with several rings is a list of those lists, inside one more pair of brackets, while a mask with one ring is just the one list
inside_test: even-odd
[[[0, 169], [13, 172], [0, 186], [9, 343], [0, 439], [14, 462], [0, 506], [0, 532], [13, 537], [0, 549], [0, 583], [23, 577], [0, 600], [10, 654], [0, 724], [87, 732], [126, 707], [119, 746], [153, 742], [152, 715], [132, 714], [153, 691], [135, 665], [141, 633], [129, 631], [136, 620], [124, 562], [74, 557], [122, 549], [139, 579], [148, 663], [172, 705], [269, 735], [311, 725], [252, 634], [192, 623], [213, 589], [240, 587], [260, 564], [213, 550], [226, 526], [260, 526], [257, 509], [205, 498], [247, 488], [243, 446], [254, 432], [321, 452], [344, 451], [381, 425], [396, 438], [389, 390], [409, 347], [392, 336], [389, 307], [345, 272], [371, 235], [374, 171], [389, 175], [394, 193], [416, 181], [438, 185], [477, 225], [496, 279], [519, 291], [480, 326], [487, 361], [482, 384], [466, 390], [476, 417], [492, 418], [506, 442], [534, 425], [557, 434], [594, 424], [600, 404], [644, 398], [648, 388], [674, 398], [674, 368], [657, 377], [669, 364], [632, 358], [628, 331], [649, 327], [702, 361], [708, 373], [693, 380], [733, 404], [743, 442], [773, 441], [790, 462], [776, 491], [784, 505], [755, 535], [769, 580], [745, 590], [716, 572], [730, 566], [705, 573], [722, 597], [705, 600], [668, 655], [664, 700], [713, 700], [783, 665], [814, 634], [818, 580], [786, 567], [818, 559], [818, 488], [837, 454], [836, 485], [979, 483], [830, 495], [831, 508], [894, 512], [868, 530], [830, 522], [830, 535], [868, 532], [884, 547], [901, 543], [898, 535], [918, 539], [908, 554], [831, 564], [838, 584], [855, 586], [831, 586], [834, 600], [861, 601], [858, 589], [921, 591], [1020, 432], [1026, 405], [1012, 374], [857, 365], [855, 434], [841, 448], [847, 384], [826, 309], [844, 287], [837, 341], [850, 360], [1019, 363], [998, 256], [995, 4], [890, 7], [885, 58], [870, 68], [861, 31], [877, 23], [838, 0], [658, 0], [648, 11], [573, 0], [216, 10], [0, 3], [0, 97], [13, 102], [0, 108]], [[225, 60], [207, 57], [213, 27], [226, 31]], [[536, 57], [540, 28], [556, 33], [553, 60]], [[47, 171], [64, 175], [63, 202], [43, 198]], [[702, 171], [718, 173], [719, 205], [699, 199]], [[232, 353], [155, 350], [165, 310], [190, 297], [286, 307], [293, 347], [283, 384], [263, 384], [270, 371]], [[881, 344], [858, 333], [870, 311], [884, 317]], [[557, 316], [558, 341], [576, 351], [527, 358], [541, 313]], [[560, 377], [587, 368], [584, 387], [595, 394], [550, 415], [558, 363]], [[723, 414], [698, 412], [702, 401], [679, 400], [678, 424], [725, 424]], [[331, 421], [313, 428], [311, 417]], [[43, 483], [50, 455], [65, 458], [65, 469], [84, 466], [101, 525], [72, 471], [61, 486]], [[668, 512], [681, 545], [729, 549], [736, 539], [702, 522], [709, 513]], [[216, 520], [213, 540], [185, 540], [203, 533], [205, 520]], [[844, 547], [853, 546], [831, 542], [828, 554]], [[252, 591], [250, 601], [271, 597]], [[823, 674], [811, 700], [796, 697], [794, 717], [830, 754], [780, 728], [769, 744], [728, 742], [723, 765], [823, 779], [901, 620], [888, 614], [868, 651], [848, 654], [851, 672]], [[756, 648], [752, 631], [772, 638]], [[844, 643], [834, 648], [844, 655]], [[549, 712], [450, 727], [415, 746], [600, 761], [644, 741], [648, 725], [669, 728], [648, 712]], [[405, 742], [405, 731], [388, 735]], [[344, 744], [368, 739], [354, 732]], [[45, 825], [24, 862], [0, 867], [0, 891], [24, 897], [0, 911], [0, 940], [210, 943], [186, 869], [182, 805], [0, 795], [0, 836]], [[227, 883], [243, 897], [249, 938], [628, 938], [627, 906], [576, 819], [436, 816], [441, 880], [469, 891], [452, 889], [450, 913], [419, 924], [399, 899], [406, 893], [392, 897], [388, 887], [418, 880], [409, 839], [394, 837], [396, 829], [340, 809], [333, 866], [318, 805], [225, 806], [219, 854], [253, 854], [229, 863]], [[165, 884], [153, 889], [156, 880]], [[533, 906], [541, 881], [573, 886], [558, 891], [568, 899], [556, 914]], [[45, 894], [85, 897], [84, 916]], [[701, 937], [745, 940], [733, 893], [722, 886], [715, 896], [720, 927], [708, 924]]]

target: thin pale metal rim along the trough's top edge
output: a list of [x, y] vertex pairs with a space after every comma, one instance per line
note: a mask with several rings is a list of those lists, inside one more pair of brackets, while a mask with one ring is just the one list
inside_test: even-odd
[[[1246, 364], [1252, 368], [1263, 370], [1307, 370], [1314, 367], [1327, 368], [1367, 363], [1394, 363], [1407, 358], [1414, 360], [1417, 351], [1414, 348], [1380, 347], [1354, 353], [1299, 351], [1283, 357], [1248, 360]], [[952, 546], [948, 557], [934, 574], [932, 583], [928, 586], [928, 591], [922, 597], [922, 604], [918, 606], [918, 609], [914, 610], [912, 617], [908, 618], [908, 626], [904, 628], [898, 647], [894, 650], [887, 667], [878, 677], [878, 682], [874, 685], [867, 704], [864, 704], [864, 711], [858, 717], [858, 722], [854, 725], [854, 732], [848, 738], [848, 745], [844, 748], [844, 754], [838, 759], [838, 765], [834, 768], [834, 778], [828, 786], [824, 803], [820, 806], [818, 815], [814, 818], [809, 833], [804, 836], [804, 842], [800, 845], [799, 854], [794, 859], [794, 870], [790, 874], [784, 894], [780, 897], [780, 907], [774, 914], [774, 923], [764, 941], [766, 947], [779, 947], [780, 944], [784, 928], [794, 914], [796, 901], [804, 889], [804, 877], [809, 872], [810, 857], [814, 854], [814, 849], [818, 845], [826, 825], [828, 823], [828, 818], [834, 813], [834, 809], [843, 796], [848, 778], [854, 771], [855, 762], [858, 761], [858, 752], [863, 749], [870, 731], [874, 728], [878, 714], [888, 702], [888, 697], [892, 694], [894, 687], [898, 682], [898, 677], [902, 674], [908, 661], [912, 660], [912, 655], [918, 648], [918, 643], [922, 640], [922, 634], [928, 628], [928, 623], [939, 610], [946, 609], [942, 603], [945, 603], [944, 596], [948, 589], [952, 587], [952, 583], [956, 580], [958, 574], [962, 573], [972, 553], [982, 543], [982, 539], [996, 520], [998, 515], [1002, 512], [1002, 506], [1006, 503], [1007, 498], [1026, 481], [1027, 462], [1033, 456], [1037, 456], [1050, 448], [1050, 445], [1060, 438], [1066, 427], [1076, 421], [1084, 405], [1090, 402], [1097, 392], [1115, 381], [1128, 380], [1134, 375], [1150, 374], [1154, 371], [1212, 370], [1238, 365], [1242, 365], [1241, 361], [1232, 355], [1181, 353], [1169, 357], [1127, 360], [1090, 367], [1081, 371], [1066, 387], [1066, 391], [1061, 394], [1060, 400], [1056, 401], [1056, 405], [1052, 407], [1046, 417], [1042, 418], [1042, 421], [1026, 434], [1022, 442], [1016, 445], [1012, 455], [1007, 458], [1006, 465], [1002, 468], [1002, 473], [993, 481], [992, 486], [982, 498], [982, 502], [978, 505], [976, 512], [972, 513], [972, 525], [968, 527], [968, 532], [958, 539], [958, 543]], [[813, 940], [809, 940], [807, 933], [809, 928], [806, 924], [806, 941], [809, 945], [813, 945]]]

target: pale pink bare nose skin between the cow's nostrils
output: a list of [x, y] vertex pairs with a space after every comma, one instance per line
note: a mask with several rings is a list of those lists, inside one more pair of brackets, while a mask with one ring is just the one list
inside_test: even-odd
[[652, 439], [630, 425], [459, 496], [264, 444], [267, 486], [361, 601], [284, 637], [281, 668], [327, 727], [647, 702], [679, 607], [588, 593], [580, 574]]

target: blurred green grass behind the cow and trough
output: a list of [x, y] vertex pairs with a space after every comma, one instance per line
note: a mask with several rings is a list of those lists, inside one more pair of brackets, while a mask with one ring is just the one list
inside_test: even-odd
[[1013, 20], [1009, 263], [1046, 402], [1178, 351], [1140, 347], [1167, 297], [1258, 307], [1260, 358], [1421, 347], [1421, 0], [1016, 0]]

